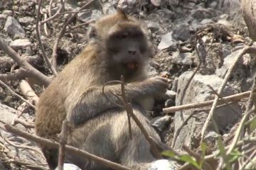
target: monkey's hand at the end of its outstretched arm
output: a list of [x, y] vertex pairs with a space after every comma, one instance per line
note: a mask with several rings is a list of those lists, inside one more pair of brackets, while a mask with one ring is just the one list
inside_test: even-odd
[[164, 77], [153, 77], [142, 81], [142, 87], [150, 96], [159, 97], [166, 93], [168, 82]]

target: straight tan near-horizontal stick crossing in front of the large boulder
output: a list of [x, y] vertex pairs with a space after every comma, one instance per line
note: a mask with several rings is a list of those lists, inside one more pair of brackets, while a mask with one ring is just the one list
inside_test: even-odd
[[[245, 91], [240, 94], [234, 94], [231, 96], [223, 97], [223, 101], [225, 101], [225, 102], [240, 101], [242, 98], [246, 98], [249, 96], [250, 96], [250, 91]], [[202, 101], [202, 102], [198, 102], [198, 103], [190, 103], [190, 104], [185, 104], [185, 105], [181, 105], [181, 106], [172, 106], [169, 108], [163, 108], [163, 112], [164, 113], [172, 113], [172, 112], [182, 111], [182, 110], [191, 109], [191, 108], [202, 108], [205, 106], [210, 106], [211, 104], [213, 104], [213, 101], [214, 100]], [[223, 104], [223, 102], [218, 101], [218, 104], [221, 105], [221, 104]]]

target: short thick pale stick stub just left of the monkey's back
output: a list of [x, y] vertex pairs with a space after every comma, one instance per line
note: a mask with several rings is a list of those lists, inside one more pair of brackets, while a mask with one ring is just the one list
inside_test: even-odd
[[28, 100], [32, 101], [33, 104], [36, 105], [38, 103], [39, 98], [36, 95], [35, 91], [31, 88], [31, 86], [28, 84], [28, 81], [26, 80], [21, 80], [19, 87], [21, 89], [21, 93], [28, 98]]

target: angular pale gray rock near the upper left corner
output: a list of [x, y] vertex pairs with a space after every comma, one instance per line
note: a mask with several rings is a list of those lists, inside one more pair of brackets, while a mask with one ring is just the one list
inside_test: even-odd
[[18, 21], [11, 16], [7, 17], [4, 30], [8, 35], [14, 36], [14, 38], [25, 38], [26, 36], [25, 30], [23, 30]]

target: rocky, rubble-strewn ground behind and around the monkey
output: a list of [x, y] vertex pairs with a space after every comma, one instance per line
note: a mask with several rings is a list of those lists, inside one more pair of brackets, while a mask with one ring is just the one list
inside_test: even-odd
[[[69, 1], [68, 1], [69, 2]], [[65, 11], [74, 11], [86, 1], [71, 1], [65, 5]], [[43, 1], [41, 18], [48, 13], [49, 1]], [[53, 2], [52, 15], [58, 11], [60, 3]], [[89, 28], [88, 23], [102, 15], [116, 11], [117, 6], [140, 18], [149, 28], [150, 38], [155, 45], [156, 56], [151, 59], [150, 73], [171, 79], [168, 95], [157, 101], [151, 113], [152, 125], [159, 130], [162, 140], [174, 149], [187, 145], [198, 148], [200, 133], [206, 121], [211, 105], [192, 108], [185, 111], [166, 111], [162, 108], [180, 106], [188, 103], [208, 101], [214, 98], [215, 91], [221, 86], [225, 74], [242, 47], [250, 43], [247, 27], [240, 16], [238, 1], [94, 1], [87, 9], [68, 25], [58, 45], [58, 70], [78, 55], [85, 47]], [[43, 62], [36, 37], [36, 13], [38, 4], [35, 0], [0, 1], [0, 38], [18, 52], [33, 67], [50, 76], [46, 63]], [[53, 44], [72, 13], [64, 13], [57, 20], [41, 25], [41, 40], [50, 57]], [[79, 26], [79, 27], [75, 27]], [[196, 45], [201, 42], [203, 50], [196, 52]], [[205, 52], [205, 57], [200, 55]], [[199, 54], [199, 57], [198, 57]], [[199, 67], [198, 67], [199, 66]], [[191, 79], [193, 72], [198, 72]], [[19, 66], [4, 51], [0, 50], [0, 72], [14, 72]], [[1, 75], [0, 74], [0, 75]], [[251, 55], [240, 58], [220, 96], [230, 96], [249, 91], [255, 74], [255, 61]], [[1, 79], [1, 77], [0, 77]], [[1, 79], [3, 80], [3, 79]], [[33, 90], [39, 96], [43, 91], [33, 81]], [[19, 81], [7, 81], [17, 94], [22, 96]], [[188, 84], [188, 85], [187, 85]], [[212, 88], [212, 89], [210, 89]], [[219, 106], [214, 113], [215, 121], [225, 142], [233, 135], [235, 124], [245, 111], [247, 100]], [[21, 113], [20, 120], [29, 125], [16, 126], [33, 133], [33, 108], [22, 109], [23, 101], [0, 85], [0, 120], [14, 123], [14, 118]], [[183, 120], [193, 114], [186, 125]], [[182, 125], [182, 126], [181, 126]], [[0, 127], [3, 128], [2, 123]], [[182, 127], [182, 128], [181, 128]], [[176, 135], [174, 135], [176, 134]], [[216, 146], [217, 134], [210, 124], [206, 133], [206, 143]], [[175, 140], [174, 140], [175, 139]], [[21, 137], [11, 135], [1, 129], [0, 169], [44, 169], [46, 162], [36, 144]]]

